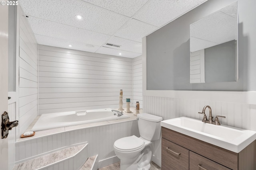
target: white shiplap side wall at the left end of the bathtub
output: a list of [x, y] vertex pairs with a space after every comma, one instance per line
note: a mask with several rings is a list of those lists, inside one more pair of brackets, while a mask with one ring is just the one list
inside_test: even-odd
[[[18, 6], [18, 8], [20, 8]], [[38, 45], [23, 11], [17, 10], [19, 21], [19, 135], [24, 133], [37, 113]]]

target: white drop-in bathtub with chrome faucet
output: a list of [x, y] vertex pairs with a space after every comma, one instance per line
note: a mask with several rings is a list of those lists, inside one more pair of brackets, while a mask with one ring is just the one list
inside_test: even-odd
[[108, 121], [128, 118], [128, 115], [114, 115], [112, 109], [93, 109], [84, 111], [68, 111], [60, 113], [48, 113], [40, 116], [32, 131], [41, 131], [71, 125], [80, 125], [96, 121]]

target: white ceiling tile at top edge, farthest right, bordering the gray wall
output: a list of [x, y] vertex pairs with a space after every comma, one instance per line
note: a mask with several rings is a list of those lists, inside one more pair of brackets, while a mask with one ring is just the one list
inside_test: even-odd
[[188, 12], [204, 0], [151, 0], [134, 15], [134, 18], [157, 27]]

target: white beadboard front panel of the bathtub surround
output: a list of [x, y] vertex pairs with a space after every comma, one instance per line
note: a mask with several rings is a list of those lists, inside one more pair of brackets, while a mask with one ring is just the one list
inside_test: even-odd
[[113, 145], [117, 139], [131, 135], [140, 136], [137, 120], [18, 141], [16, 142], [16, 162], [21, 163], [28, 158], [42, 156], [46, 152], [82, 142], [88, 142], [89, 157], [98, 154], [99, 161], [105, 160], [116, 156]]

